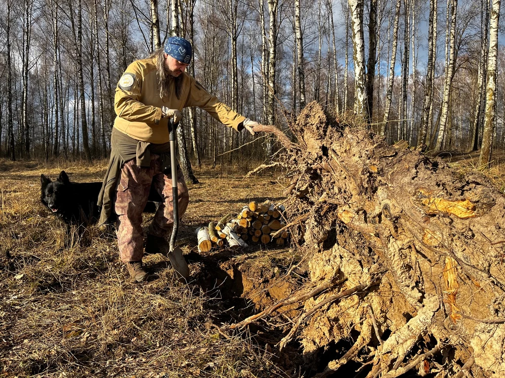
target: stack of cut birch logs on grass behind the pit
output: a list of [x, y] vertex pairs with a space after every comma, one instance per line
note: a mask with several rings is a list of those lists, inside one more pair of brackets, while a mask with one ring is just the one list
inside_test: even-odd
[[251, 202], [235, 217], [227, 214], [217, 224], [198, 227], [198, 250], [208, 252], [212, 247], [225, 245], [225, 240], [232, 248], [246, 247], [246, 241], [282, 246], [288, 237], [282, 217], [284, 210], [283, 205], [276, 206], [270, 201], [263, 205]]

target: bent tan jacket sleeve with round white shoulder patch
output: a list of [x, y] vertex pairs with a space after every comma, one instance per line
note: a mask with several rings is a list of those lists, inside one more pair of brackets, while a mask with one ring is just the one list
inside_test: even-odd
[[119, 79], [114, 96], [116, 115], [131, 122], [160, 123], [161, 108], [145, 105], [142, 99], [142, 69], [133, 62]]

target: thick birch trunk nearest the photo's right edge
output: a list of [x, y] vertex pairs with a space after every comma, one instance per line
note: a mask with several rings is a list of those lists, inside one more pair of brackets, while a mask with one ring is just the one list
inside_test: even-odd
[[484, 134], [480, 150], [479, 166], [489, 166], [493, 142], [494, 122], [496, 118], [496, 55], [498, 52], [498, 20], [500, 0], [493, 0], [489, 22], [489, 55], [487, 58], [487, 88]]

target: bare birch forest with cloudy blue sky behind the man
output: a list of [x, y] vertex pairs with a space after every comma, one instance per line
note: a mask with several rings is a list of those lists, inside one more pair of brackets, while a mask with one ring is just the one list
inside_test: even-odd
[[[6, 0], [0, 157], [107, 157], [119, 77], [180, 35], [194, 47], [189, 73], [251, 119], [285, 129], [316, 100], [358, 114], [389, 143], [482, 147], [487, 165], [491, 146], [505, 144], [499, 9], [499, 0]], [[189, 157], [272, 152], [268, 138], [248, 143], [199, 109], [186, 111], [178, 137], [186, 179]]]

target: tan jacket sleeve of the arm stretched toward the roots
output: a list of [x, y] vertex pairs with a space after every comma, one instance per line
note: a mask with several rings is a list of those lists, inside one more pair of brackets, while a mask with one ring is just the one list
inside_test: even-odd
[[244, 128], [242, 122], [245, 117], [230, 109], [219, 101], [216, 96], [212, 96], [194, 78], [191, 78], [189, 97], [184, 107], [190, 106], [197, 106], [206, 110], [215, 119], [236, 131], [241, 131]]

